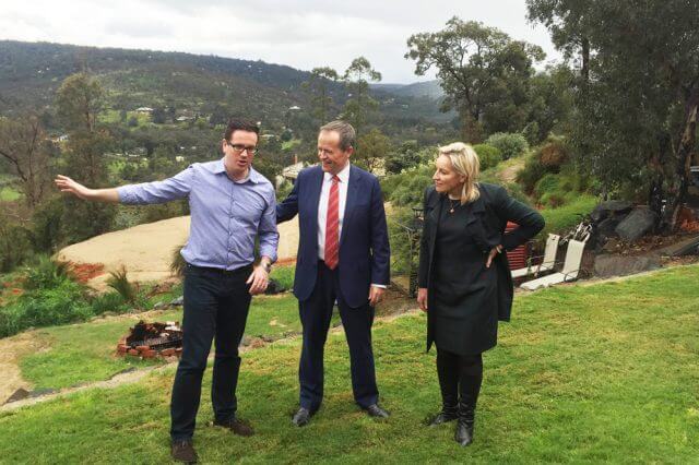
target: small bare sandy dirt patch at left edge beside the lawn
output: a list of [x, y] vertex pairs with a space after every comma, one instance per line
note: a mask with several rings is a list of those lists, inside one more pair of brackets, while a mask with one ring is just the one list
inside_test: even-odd
[[31, 384], [22, 379], [19, 361], [22, 356], [48, 347], [34, 331], [0, 339], [0, 405], [19, 389], [31, 391]]

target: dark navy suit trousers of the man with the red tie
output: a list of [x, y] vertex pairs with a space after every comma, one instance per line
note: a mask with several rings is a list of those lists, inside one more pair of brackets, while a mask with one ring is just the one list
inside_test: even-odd
[[323, 398], [323, 349], [335, 299], [350, 346], [354, 400], [366, 408], [376, 404], [379, 398], [371, 349], [374, 307], [368, 301], [359, 308], [348, 307], [340, 291], [337, 269], [330, 270], [324, 262], [319, 261], [316, 288], [307, 300], [298, 303], [304, 326], [298, 369], [300, 406], [311, 412], [320, 408]]

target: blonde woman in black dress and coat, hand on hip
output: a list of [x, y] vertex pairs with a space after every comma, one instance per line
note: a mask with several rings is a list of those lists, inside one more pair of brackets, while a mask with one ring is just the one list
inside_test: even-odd
[[[483, 380], [482, 354], [509, 321], [507, 255], [534, 237], [544, 218], [494, 184], [478, 182], [478, 156], [464, 143], [439, 148], [435, 186], [425, 191], [417, 303], [427, 312], [427, 350], [437, 346], [442, 409], [431, 425], [458, 419], [454, 439], [473, 441]], [[519, 228], [505, 233], [507, 222]]]

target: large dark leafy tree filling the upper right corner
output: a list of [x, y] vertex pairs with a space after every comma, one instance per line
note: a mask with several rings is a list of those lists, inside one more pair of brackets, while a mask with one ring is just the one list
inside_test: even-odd
[[571, 138], [583, 166], [606, 190], [645, 189], [675, 229], [696, 153], [699, 3], [528, 0], [528, 8], [559, 48], [588, 49]]

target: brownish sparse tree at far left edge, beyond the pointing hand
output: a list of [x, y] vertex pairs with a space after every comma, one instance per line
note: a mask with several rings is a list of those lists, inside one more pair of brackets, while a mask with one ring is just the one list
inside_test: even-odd
[[49, 151], [39, 118], [0, 119], [0, 156], [17, 177], [26, 205], [36, 208], [50, 182]]

